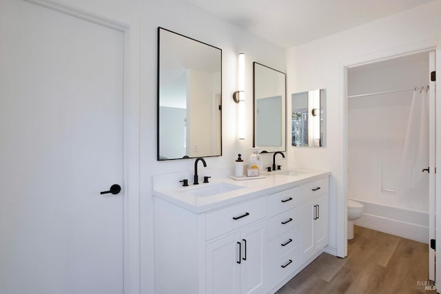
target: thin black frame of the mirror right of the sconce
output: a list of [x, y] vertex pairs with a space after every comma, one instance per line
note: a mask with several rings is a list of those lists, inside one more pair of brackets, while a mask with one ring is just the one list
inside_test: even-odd
[[[283, 82], [285, 86], [285, 90], [283, 94], [285, 95], [285, 99], [282, 100], [282, 103], [284, 103], [285, 111], [282, 111], [281, 115], [283, 116], [282, 120], [285, 119], [285, 121], [282, 121], [281, 124], [281, 132], [282, 132], [282, 146], [280, 148], [274, 147], [270, 150], [265, 150], [263, 148], [268, 149], [269, 146], [258, 146], [256, 145], [256, 65], [260, 65], [263, 67], [266, 67], [269, 70], [274, 70], [275, 72], [278, 72], [280, 74], [283, 74]], [[285, 129], [283, 129], [285, 127]], [[285, 142], [283, 142], [285, 140]], [[267, 65], [263, 65], [258, 62], [253, 62], [253, 147], [260, 148], [260, 153], [272, 153], [276, 151], [287, 151], [287, 75], [285, 72], [280, 72], [280, 70], [275, 70], [274, 68], [271, 68]]]

